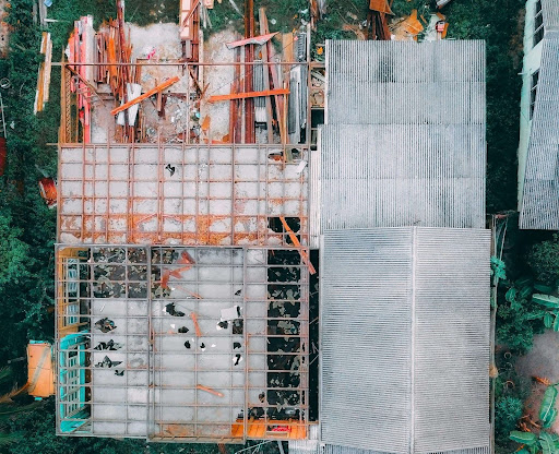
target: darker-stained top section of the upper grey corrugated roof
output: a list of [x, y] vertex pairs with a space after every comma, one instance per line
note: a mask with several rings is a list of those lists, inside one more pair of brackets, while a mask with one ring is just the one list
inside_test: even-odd
[[485, 43], [326, 41], [326, 122], [485, 124]]

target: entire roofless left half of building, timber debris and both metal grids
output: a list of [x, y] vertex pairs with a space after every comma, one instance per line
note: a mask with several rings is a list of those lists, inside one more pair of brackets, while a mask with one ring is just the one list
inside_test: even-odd
[[[254, 62], [252, 38], [225, 32], [228, 41], [206, 43], [217, 57], [204, 58], [201, 8], [182, 2], [180, 26], [143, 29], [124, 24], [119, 2], [117, 21], [95, 32], [82, 17], [70, 38], [58, 171], [59, 434], [307, 437], [307, 48], [294, 57], [296, 35], [286, 34], [292, 53], [275, 57], [269, 35], [258, 45], [269, 58]], [[246, 96], [241, 80], [253, 77], [265, 96]]]

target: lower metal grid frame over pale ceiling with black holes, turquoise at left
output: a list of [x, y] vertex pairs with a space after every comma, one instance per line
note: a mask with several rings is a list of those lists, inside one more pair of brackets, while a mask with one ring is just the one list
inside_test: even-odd
[[[57, 389], [58, 434], [221, 443], [307, 437], [309, 275], [298, 249], [59, 244], [56, 252], [57, 373], [75, 371], [83, 378], [78, 386], [61, 383]], [[69, 273], [75, 267], [78, 273]], [[75, 322], [75, 313], [66, 309], [75, 300], [79, 323], [69, 323]], [[166, 314], [162, 308], [169, 303], [186, 316]], [[202, 333], [202, 342], [209, 344], [205, 351], [197, 338], [193, 354], [187, 354], [192, 363], [178, 366], [188, 350], [175, 350], [176, 340], [189, 339], [191, 334], [170, 333], [170, 321], [177, 321], [175, 328], [187, 324], [192, 310], [198, 312], [200, 328], [210, 333], [219, 320], [218, 309], [231, 303], [242, 304], [242, 332]], [[276, 306], [284, 312], [274, 312]], [[287, 308], [292, 312], [286, 314]], [[117, 327], [99, 333], [95, 322], [105, 316]], [[69, 335], [81, 336], [78, 347], [62, 348]], [[122, 348], [95, 349], [109, 338]], [[241, 344], [245, 362], [238, 371], [231, 366], [233, 339]], [[282, 339], [287, 340], [282, 344]], [[229, 344], [223, 350], [222, 342]], [[212, 354], [210, 343], [219, 351]], [[283, 351], [288, 345], [292, 351]], [[62, 359], [75, 348], [81, 349], [85, 363], [68, 366]], [[109, 355], [122, 366], [95, 366]], [[210, 363], [204, 357], [211, 357]], [[222, 366], [222, 359], [228, 366]], [[114, 370], [124, 377], [115, 377]], [[176, 378], [166, 382], [167, 373]], [[210, 384], [224, 396], [198, 390], [198, 384]], [[79, 405], [68, 398], [75, 389], [84, 390], [79, 393]], [[164, 395], [173, 402], [164, 402]], [[192, 398], [185, 399], [187, 395]], [[221, 402], [224, 397], [225, 403]], [[68, 408], [71, 411], [63, 411]], [[225, 417], [211, 419], [224, 411]], [[73, 427], [68, 429], [69, 425]]]

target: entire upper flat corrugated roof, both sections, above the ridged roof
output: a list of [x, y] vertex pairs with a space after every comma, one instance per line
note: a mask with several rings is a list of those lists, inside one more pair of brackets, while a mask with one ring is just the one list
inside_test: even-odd
[[485, 226], [485, 44], [328, 41], [321, 231]]

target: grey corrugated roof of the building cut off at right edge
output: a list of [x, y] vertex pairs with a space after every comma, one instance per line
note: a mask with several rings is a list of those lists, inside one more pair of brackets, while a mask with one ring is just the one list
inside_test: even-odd
[[558, 230], [559, 34], [546, 35], [542, 52], [542, 67], [526, 157], [520, 227]]

